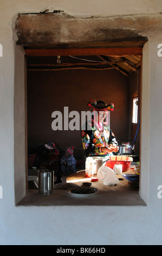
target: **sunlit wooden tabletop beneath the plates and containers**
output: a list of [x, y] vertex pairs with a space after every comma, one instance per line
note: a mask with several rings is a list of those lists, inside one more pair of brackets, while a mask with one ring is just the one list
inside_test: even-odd
[[[124, 172], [124, 174], [135, 174], [133, 169], [127, 170], [127, 172]], [[96, 175], [94, 175], [95, 177]], [[119, 183], [116, 184], [115, 186], [106, 186], [103, 184], [102, 181], [91, 181], [91, 178], [86, 177], [85, 170], [80, 170], [79, 172], [70, 174], [66, 182], [72, 182], [75, 183], [76, 185], [81, 184], [81, 182], [91, 182], [92, 185], [91, 187], [97, 188], [99, 191], [138, 191], [138, 187], [131, 187], [128, 185], [127, 180], [124, 178], [122, 175], [116, 175], [116, 178], [119, 179]]]

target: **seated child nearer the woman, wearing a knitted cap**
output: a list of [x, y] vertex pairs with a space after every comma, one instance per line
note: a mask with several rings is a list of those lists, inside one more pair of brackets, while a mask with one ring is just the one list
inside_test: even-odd
[[65, 151], [65, 155], [61, 157], [61, 171], [63, 174], [76, 172], [76, 160], [73, 156], [73, 149], [68, 148]]

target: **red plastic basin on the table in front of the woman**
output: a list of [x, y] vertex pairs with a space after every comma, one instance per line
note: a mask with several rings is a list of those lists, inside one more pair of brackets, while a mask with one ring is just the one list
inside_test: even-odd
[[110, 160], [106, 162], [105, 166], [113, 169], [115, 164], [122, 164], [122, 172], [126, 172], [132, 161], [132, 157], [128, 156], [110, 156]]

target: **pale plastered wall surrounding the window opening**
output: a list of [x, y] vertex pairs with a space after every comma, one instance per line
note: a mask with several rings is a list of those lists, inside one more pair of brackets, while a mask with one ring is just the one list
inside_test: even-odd
[[[146, 161], [141, 163], [141, 180], [144, 187], [140, 192], [148, 206], [15, 206], [15, 195], [18, 201], [25, 194], [24, 107], [21, 108], [24, 106], [24, 60], [22, 48], [16, 47], [12, 40], [11, 22], [18, 12], [39, 12], [48, 5], [81, 17], [151, 14], [162, 10], [161, 1], [125, 0], [122, 1], [122, 5], [121, 1], [117, 0], [113, 2], [36, 0], [34, 3], [19, 0], [16, 4], [14, 0], [1, 1], [0, 43], [3, 45], [3, 57], [0, 57], [0, 185], [3, 187], [3, 198], [0, 199], [0, 243], [2, 245], [162, 244], [160, 234], [162, 199], [157, 196], [157, 187], [162, 185], [160, 162], [162, 57], [157, 56], [157, 45], [162, 43], [160, 36], [150, 38], [144, 47], [142, 74], [141, 155]], [[15, 94], [14, 90], [16, 90]], [[14, 111], [17, 129], [15, 137]], [[20, 159], [15, 163], [16, 165], [14, 154]]]

